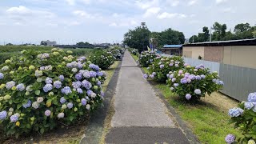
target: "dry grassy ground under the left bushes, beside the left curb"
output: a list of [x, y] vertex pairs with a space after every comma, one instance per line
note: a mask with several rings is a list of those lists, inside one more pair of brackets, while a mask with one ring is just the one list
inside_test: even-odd
[[[114, 70], [118, 67], [119, 61], [114, 62], [110, 69], [105, 70], [107, 78], [102, 85], [102, 90], [106, 91], [110, 79], [113, 77]], [[89, 116], [88, 116], [89, 118]], [[19, 139], [9, 139], [4, 143], [62, 143], [62, 144], [78, 144], [85, 132], [86, 125], [89, 121], [78, 122], [74, 126], [63, 126], [57, 130], [48, 132], [44, 135], [35, 134], [33, 136], [23, 137]], [[1, 137], [0, 137], [1, 138]], [[1, 142], [1, 141], [0, 141]]]

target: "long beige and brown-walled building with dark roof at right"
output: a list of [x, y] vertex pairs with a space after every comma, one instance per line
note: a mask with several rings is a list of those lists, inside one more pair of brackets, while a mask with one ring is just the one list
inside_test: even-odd
[[256, 38], [183, 45], [182, 56], [256, 69]]

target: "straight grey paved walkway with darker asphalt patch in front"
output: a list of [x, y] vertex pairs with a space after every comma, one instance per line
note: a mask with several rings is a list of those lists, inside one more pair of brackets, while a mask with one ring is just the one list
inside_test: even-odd
[[106, 143], [189, 143], [128, 51], [114, 96], [115, 114]]

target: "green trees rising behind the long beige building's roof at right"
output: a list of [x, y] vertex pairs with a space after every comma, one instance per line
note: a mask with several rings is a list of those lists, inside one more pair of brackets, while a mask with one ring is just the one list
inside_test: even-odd
[[[211, 41], [227, 41], [236, 39], [246, 39], [256, 37], [256, 26], [250, 26], [249, 23], [240, 23], [234, 26], [234, 32], [231, 30], [226, 31], [226, 24], [220, 24], [215, 22], [212, 30]], [[193, 35], [190, 37], [189, 42], [209, 42], [210, 41], [210, 30], [207, 26], [202, 27], [202, 33]]]

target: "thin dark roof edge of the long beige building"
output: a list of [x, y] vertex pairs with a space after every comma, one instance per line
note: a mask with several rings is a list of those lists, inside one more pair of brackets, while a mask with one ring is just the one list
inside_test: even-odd
[[196, 42], [184, 44], [183, 46], [256, 46], [256, 38], [231, 41]]

